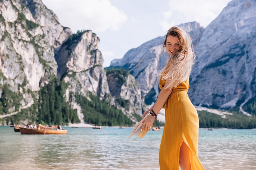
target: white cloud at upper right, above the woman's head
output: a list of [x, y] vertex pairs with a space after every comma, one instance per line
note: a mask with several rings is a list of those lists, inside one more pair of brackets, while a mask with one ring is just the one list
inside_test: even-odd
[[[186, 22], [199, 22], [204, 28], [227, 6], [230, 0], [170, 0], [168, 11], [161, 22], [163, 30]], [[170, 23], [170, 24], [167, 24]]]

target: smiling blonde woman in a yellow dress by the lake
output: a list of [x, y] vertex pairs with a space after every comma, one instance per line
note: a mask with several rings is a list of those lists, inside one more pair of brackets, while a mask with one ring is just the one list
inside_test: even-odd
[[198, 153], [198, 113], [187, 91], [195, 53], [190, 36], [178, 26], [168, 30], [163, 44], [170, 59], [159, 75], [161, 89], [155, 104], [147, 110], [142, 129], [149, 131], [157, 113], [165, 108], [165, 126], [159, 150], [161, 170], [204, 170]]

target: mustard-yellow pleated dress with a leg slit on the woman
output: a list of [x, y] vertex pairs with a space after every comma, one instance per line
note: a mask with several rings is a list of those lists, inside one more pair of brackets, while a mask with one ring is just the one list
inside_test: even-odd
[[[160, 80], [159, 87], [164, 87], [165, 81]], [[165, 125], [159, 150], [160, 170], [179, 170], [180, 146], [184, 141], [190, 148], [190, 163], [192, 170], [204, 170], [198, 154], [198, 113], [191, 103], [187, 91], [189, 77], [168, 97], [165, 108]]]

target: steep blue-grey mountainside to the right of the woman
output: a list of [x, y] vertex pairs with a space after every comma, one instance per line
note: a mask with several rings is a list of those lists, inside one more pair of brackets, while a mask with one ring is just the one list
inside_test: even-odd
[[196, 105], [241, 106], [255, 96], [256, 1], [234, 0], [202, 33], [189, 95]]

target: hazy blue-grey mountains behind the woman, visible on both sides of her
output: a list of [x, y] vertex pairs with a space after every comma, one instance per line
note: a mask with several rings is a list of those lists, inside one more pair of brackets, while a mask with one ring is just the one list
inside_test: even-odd
[[[196, 22], [179, 25], [192, 39], [197, 58], [190, 79], [193, 104], [240, 108], [255, 97], [256, 1], [233, 0], [205, 29]], [[111, 67], [124, 67], [136, 78], [142, 95], [155, 85], [168, 55], [161, 53], [165, 35], [128, 51]], [[155, 86], [158, 94], [158, 87]]]

